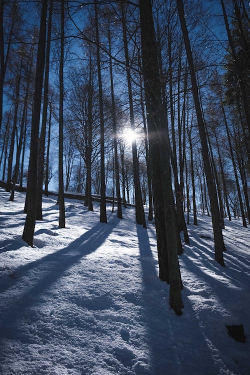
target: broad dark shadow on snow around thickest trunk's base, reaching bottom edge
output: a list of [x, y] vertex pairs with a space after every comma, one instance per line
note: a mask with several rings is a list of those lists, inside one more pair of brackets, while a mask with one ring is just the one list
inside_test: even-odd
[[[218, 373], [215, 369], [210, 350], [198, 325], [197, 317], [192, 310], [190, 301], [183, 293], [183, 316], [179, 317], [169, 310], [168, 286], [158, 279], [154, 266], [147, 231], [136, 226], [140, 261], [143, 279], [143, 299], [145, 306], [145, 322], [148, 329], [148, 344], [151, 349], [152, 375], [179, 373], [200, 374], [200, 355], [204, 353], [204, 375]], [[188, 316], [185, 314], [188, 313]], [[190, 316], [191, 314], [191, 316]], [[188, 319], [187, 319], [188, 318]], [[185, 333], [184, 333], [185, 332]], [[183, 339], [183, 334], [185, 337]], [[195, 339], [197, 353], [188, 342], [188, 337]], [[179, 345], [179, 342], [186, 342]]]

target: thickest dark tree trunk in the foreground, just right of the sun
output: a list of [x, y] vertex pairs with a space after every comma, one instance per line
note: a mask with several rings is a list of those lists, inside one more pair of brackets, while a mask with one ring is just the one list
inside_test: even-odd
[[[171, 190], [169, 154], [166, 148], [166, 128], [163, 121], [161, 82], [151, 1], [139, 0], [139, 10], [149, 152], [154, 166], [152, 187], [158, 257], [162, 257], [163, 265], [169, 270], [169, 304], [176, 314], [181, 314], [183, 307], [182, 283], [177, 256], [177, 235], [179, 233], [174, 219], [175, 207]], [[167, 268], [164, 270], [166, 276]]]

